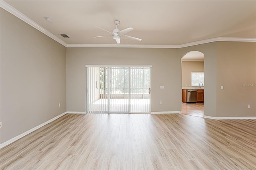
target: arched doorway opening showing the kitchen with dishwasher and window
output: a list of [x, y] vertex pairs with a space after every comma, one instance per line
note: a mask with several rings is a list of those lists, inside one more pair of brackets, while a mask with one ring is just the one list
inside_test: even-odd
[[[204, 53], [190, 51], [181, 59], [182, 108], [181, 113], [204, 116]], [[192, 95], [193, 94], [193, 95]]]

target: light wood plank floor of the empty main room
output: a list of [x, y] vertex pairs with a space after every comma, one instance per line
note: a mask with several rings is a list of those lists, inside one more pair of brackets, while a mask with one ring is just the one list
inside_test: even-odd
[[256, 169], [256, 120], [66, 114], [0, 150], [4, 169]]

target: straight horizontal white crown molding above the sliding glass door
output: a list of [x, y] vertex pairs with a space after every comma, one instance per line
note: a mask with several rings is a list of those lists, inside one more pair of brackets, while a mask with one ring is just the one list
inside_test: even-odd
[[68, 48], [105, 47], [105, 48], [179, 48], [179, 45], [141, 45], [141, 44], [68, 44]]

